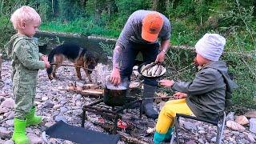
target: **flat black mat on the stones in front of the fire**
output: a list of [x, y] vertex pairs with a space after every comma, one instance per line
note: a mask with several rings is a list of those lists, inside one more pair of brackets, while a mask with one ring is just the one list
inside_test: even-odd
[[109, 135], [94, 130], [86, 130], [79, 126], [70, 126], [63, 121], [50, 126], [46, 130], [46, 134], [51, 138], [61, 138], [82, 144], [116, 144], [120, 138], [119, 134]]

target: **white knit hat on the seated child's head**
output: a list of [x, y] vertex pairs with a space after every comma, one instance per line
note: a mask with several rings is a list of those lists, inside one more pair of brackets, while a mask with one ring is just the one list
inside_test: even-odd
[[195, 50], [203, 58], [210, 61], [218, 61], [218, 58], [222, 55], [224, 46], [226, 45], [226, 39], [219, 34], [205, 34], [195, 44]]

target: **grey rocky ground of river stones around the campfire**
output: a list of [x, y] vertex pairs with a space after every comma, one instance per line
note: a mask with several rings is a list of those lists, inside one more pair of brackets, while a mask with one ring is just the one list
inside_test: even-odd
[[[100, 85], [104, 84], [106, 75], [110, 74], [108, 66], [99, 64], [96, 68], [97, 72], [93, 73], [94, 83]], [[12, 94], [12, 82], [10, 79], [11, 66], [10, 61], [2, 63], [2, 82], [0, 83], [0, 143], [10, 144], [14, 143], [10, 140], [11, 134], [14, 130], [14, 95]], [[84, 75], [84, 73], [82, 73]], [[42, 132], [47, 127], [54, 125], [60, 120], [74, 126], [81, 126], [82, 106], [94, 102], [96, 98], [83, 97], [81, 94], [66, 91], [66, 86], [72, 82], [84, 83], [76, 78], [74, 68], [64, 67], [58, 69], [58, 79], [49, 81], [46, 76], [46, 70], [39, 70], [38, 74], [38, 88], [35, 98], [35, 105], [37, 106], [37, 114], [43, 116], [44, 121], [40, 126], [30, 126], [26, 128], [27, 135], [31, 143], [46, 143], [45, 138], [42, 137]], [[88, 80], [86, 79], [86, 82]], [[162, 107], [164, 102], [160, 102], [156, 108]], [[154, 131], [155, 122], [152, 119], [147, 119], [145, 115], [138, 118], [138, 110], [124, 110], [122, 114], [122, 121], [126, 122], [126, 129], [118, 128], [119, 132], [126, 134], [127, 137], [137, 139], [137, 142], [152, 143], [153, 135], [146, 133], [146, 130], [152, 128]], [[248, 117], [247, 117], [248, 118]], [[253, 116], [250, 115], [253, 119]], [[88, 114], [85, 127], [90, 130], [106, 132], [102, 125], [99, 125], [99, 120], [102, 117], [96, 114]], [[104, 119], [104, 118], [103, 118]], [[224, 143], [256, 143], [256, 135], [249, 130], [249, 121], [242, 117], [242, 122], [237, 121], [238, 117], [234, 113], [230, 113], [227, 120], [227, 126], [224, 130]], [[104, 122], [109, 121], [105, 120]], [[237, 126], [236, 122], [241, 123]], [[102, 122], [102, 121], [101, 121]], [[233, 123], [232, 123], [233, 122]], [[251, 122], [251, 121], [250, 121]], [[108, 122], [109, 123], [109, 122]], [[203, 122], [194, 122], [191, 120], [181, 120], [181, 132], [179, 133], [182, 143], [214, 143], [216, 142], [216, 128]], [[105, 124], [103, 124], [105, 125]], [[255, 126], [256, 127], [256, 126]], [[255, 132], [255, 131], [254, 131]], [[73, 143], [61, 139], [48, 138], [49, 143]], [[135, 142], [135, 141], [130, 141]], [[127, 143], [124, 138], [118, 143]]]

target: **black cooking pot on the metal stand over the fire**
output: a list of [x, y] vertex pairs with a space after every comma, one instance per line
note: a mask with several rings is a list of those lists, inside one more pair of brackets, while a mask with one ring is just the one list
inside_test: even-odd
[[125, 86], [106, 85], [104, 103], [107, 106], [123, 106], [126, 103], [127, 88]]

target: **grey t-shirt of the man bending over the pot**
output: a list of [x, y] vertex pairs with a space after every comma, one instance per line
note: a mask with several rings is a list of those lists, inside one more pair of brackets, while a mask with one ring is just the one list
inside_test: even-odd
[[[146, 17], [146, 14], [153, 12], [151, 10], [137, 10], [133, 14], [130, 15], [128, 18], [126, 25], [122, 29], [121, 34], [119, 35], [118, 41], [116, 45], [121, 46], [122, 49], [126, 48], [128, 45], [129, 40], [132, 42], [140, 43], [140, 44], [149, 44], [149, 43], [156, 43], [156, 42], [147, 42], [142, 38], [142, 20]], [[160, 13], [159, 13], [160, 14]], [[165, 15], [161, 14], [163, 18], [163, 25], [162, 29], [158, 35], [158, 38], [161, 41], [170, 39], [170, 21], [166, 18]]]

